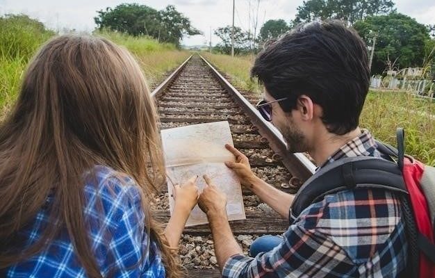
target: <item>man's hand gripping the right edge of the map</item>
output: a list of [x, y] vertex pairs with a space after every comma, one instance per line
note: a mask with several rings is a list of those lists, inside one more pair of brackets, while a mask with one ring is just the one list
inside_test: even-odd
[[236, 172], [238, 178], [240, 179], [240, 183], [242, 183], [243, 186], [250, 187], [256, 176], [251, 170], [249, 159], [245, 156], [245, 154], [242, 154], [235, 147], [228, 144], [226, 144], [225, 147], [229, 150], [229, 152], [231, 152], [231, 154], [236, 156], [236, 162], [227, 161], [225, 162], [225, 165]]

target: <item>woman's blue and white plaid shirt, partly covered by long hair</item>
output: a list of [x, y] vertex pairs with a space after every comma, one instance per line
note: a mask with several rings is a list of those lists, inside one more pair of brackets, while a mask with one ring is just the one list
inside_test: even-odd
[[[90, 223], [90, 247], [103, 277], [165, 277], [161, 253], [145, 231], [145, 213], [133, 179], [96, 166], [95, 182], [85, 184], [85, 220]], [[47, 199], [28, 228], [20, 232], [23, 246], [35, 243], [42, 227], [50, 227]], [[66, 229], [38, 254], [6, 270], [7, 277], [87, 277]]]

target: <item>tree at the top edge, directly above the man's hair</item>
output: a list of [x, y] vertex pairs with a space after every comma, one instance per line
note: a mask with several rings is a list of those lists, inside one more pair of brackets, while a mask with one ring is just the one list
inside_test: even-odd
[[392, 0], [308, 0], [297, 7], [295, 23], [340, 19], [349, 24], [372, 15], [395, 11]]

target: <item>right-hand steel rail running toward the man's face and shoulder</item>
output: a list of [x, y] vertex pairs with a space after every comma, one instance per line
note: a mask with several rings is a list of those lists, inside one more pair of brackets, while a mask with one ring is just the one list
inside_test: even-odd
[[290, 171], [293, 177], [297, 177], [300, 181], [304, 182], [306, 179], [311, 177], [315, 172], [315, 165], [309, 161], [304, 154], [290, 154], [287, 151], [287, 144], [282, 137], [281, 133], [268, 121], [264, 120], [257, 109], [252, 106], [252, 104], [243, 97], [243, 95], [227, 81], [227, 79], [222, 76], [211, 63], [199, 55], [199, 57], [204, 60], [204, 63], [210, 67], [213, 76], [219, 81], [219, 83], [224, 87], [233, 99], [240, 105], [245, 113], [249, 116], [252, 124], [258, 128], [258, 132], [261, 136], [268, 139], [270, 147], [279, 154], [282, 158], [283, 164]]

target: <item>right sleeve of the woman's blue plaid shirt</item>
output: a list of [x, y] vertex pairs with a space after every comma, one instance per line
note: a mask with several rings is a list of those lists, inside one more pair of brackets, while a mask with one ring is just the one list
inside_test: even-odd
[[[145, 230], [140, 189], [129, 178], [110, 178], [100, 192], [104, 221], [92, 236], [106, 277], [165, 277], [156, 245]], [[110, 203], [110, 204], [109, 204]]]

